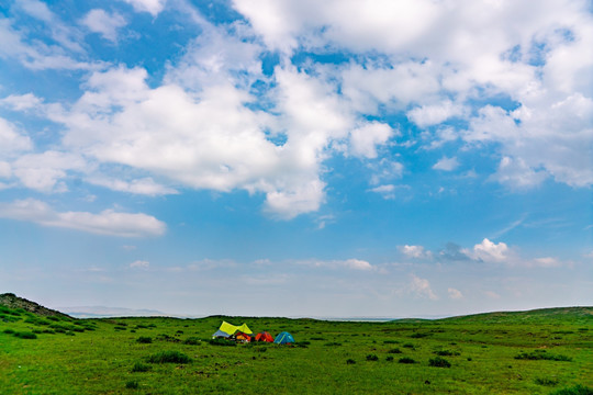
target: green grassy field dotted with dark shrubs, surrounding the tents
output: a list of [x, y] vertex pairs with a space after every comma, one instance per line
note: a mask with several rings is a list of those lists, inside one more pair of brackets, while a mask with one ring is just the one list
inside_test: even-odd
[[[292, 346], [210, 343], [222, 320]], [[0, 306], [1, 394], [593, 394], [593, 307], [390, 323]]]

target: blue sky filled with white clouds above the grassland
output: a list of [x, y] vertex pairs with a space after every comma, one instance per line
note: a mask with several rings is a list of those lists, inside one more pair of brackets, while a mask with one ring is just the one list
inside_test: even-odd
[[586, 0], [0, 2], [0, 291], [446, 316], [593, 304]]

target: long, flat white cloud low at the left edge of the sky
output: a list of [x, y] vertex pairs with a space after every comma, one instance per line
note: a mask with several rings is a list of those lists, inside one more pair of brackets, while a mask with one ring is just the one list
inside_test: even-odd
[[0, 217], [119, 237], [160, 236], [166, 230], [165, 223], [142, 213], [118, 213], [113, 210], [105, 210], [99, 214], [59, 213], [34, 199], [0, 203]]

